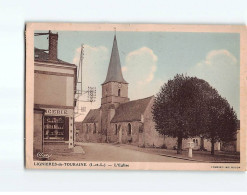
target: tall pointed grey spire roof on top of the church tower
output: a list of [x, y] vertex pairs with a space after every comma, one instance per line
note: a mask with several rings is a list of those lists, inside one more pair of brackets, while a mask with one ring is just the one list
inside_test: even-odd
[[103, 84], [111, 82], [111, 81], [127, 83], [123, 78], [123, 74], [121, 70], [121, 63], [120, 63], [120, 57], [119, 57], [119, 52], [118, 52], [116, 35], [114, 36], [114, 40], [113, 40], [111, 59], [110, 59], [109, 67], [108, 67], [106, 80]]

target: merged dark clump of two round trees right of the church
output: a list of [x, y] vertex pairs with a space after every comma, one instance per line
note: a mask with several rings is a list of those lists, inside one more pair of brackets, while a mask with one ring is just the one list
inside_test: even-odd
[[176, 75], [165, 83], [155, 96], [152, 110], [156, 130], [177, 138], [177, 153], [182, 152], [182, 140], [195, 136], [214, 143], [232, 140], [237, 117], [228, 102], [206, 81], [196, 77]]

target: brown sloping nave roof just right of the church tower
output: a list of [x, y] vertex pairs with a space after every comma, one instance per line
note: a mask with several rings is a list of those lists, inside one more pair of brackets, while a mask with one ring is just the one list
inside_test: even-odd
[[141, 115], [144, 114], [152, 98], [153, 96], [120, 104], [111, 122], [141, 121]]

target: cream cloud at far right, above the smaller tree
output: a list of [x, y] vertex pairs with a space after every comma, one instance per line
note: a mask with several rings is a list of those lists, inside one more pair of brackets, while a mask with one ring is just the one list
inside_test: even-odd
[[238, 95], [240, 65], [237, 58], [228, 50], [212, 50], [205, 59], [198, 62], [188, 75], [196, 76], [209, 82], [222, 97], [239, 113]]

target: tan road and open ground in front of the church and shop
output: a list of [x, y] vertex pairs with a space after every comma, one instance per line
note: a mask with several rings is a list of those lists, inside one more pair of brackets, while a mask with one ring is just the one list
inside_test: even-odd
[[85, 153], [74, 153], [65, 144], [45, 145], [45, 154], [52, 154], [51, 161], [118, 161], [118, 162], [239, 162], [239, 154], [193, 151], [193, 158], [188, 158], [188, 151], [176, 154], [175, 150], [160, 148], [139, 148], [126, 144], [76, 143]]

